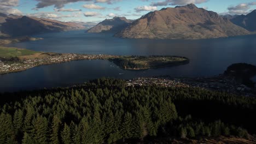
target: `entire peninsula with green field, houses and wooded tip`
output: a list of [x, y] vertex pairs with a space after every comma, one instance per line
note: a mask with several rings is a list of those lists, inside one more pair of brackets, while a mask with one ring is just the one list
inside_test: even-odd
[[103, 59], [114, 62], [124, 69], [138, 70], [168, 67], [189, 63], [178, 56], [114, 56], [86, 55], [75, 53], [38, 52], [27, 49], [0, 46], [0, 74], [23, 71], [39, 65], [48, 65], [77, 60]]

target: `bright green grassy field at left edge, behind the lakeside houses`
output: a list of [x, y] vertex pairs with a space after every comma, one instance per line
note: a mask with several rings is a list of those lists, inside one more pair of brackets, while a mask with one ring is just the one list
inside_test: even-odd
[[1, 47], [0, 46], [0, 57], [19, 57], [19, 56], [27, 56], [38, 53], [32, 50], [26, 49], [17, 49], [13, 47]]

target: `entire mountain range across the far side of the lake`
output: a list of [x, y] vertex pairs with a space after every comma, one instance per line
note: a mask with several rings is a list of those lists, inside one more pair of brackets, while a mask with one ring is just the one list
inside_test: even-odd
[[253, 34], [256, 10], [247, 15], [218, 15], [194, 4], [152, 11], [137, 20], [113, 17], [92, 22], [61, 22], [45, 18], [0, 13], [0, 37], [88, 29], [133, 39], [208, 39]]

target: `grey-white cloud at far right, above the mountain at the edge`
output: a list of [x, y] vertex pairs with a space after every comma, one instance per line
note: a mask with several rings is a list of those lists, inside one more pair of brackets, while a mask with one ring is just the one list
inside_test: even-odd
[[230, 6], [230, 7], [228, 7], [229, 11], [227, 14], [231, 14], [231, 15], [248, 14], [250, 12], [249, 9], [251, 8], [252, 5], [256, 5], [256, 2], [240, 3], [235, 6]]

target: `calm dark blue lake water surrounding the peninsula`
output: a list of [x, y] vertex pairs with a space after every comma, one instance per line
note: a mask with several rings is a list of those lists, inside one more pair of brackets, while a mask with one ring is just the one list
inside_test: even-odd
[[177, 55], [190, 59], [187, 65], [141, 71], [123, 70], [102, 61], [74, 61], [43, 65], [19, 73], [0, 75], [0, 91], [69, 86], [99, 77], [132, 79], [141, 76], [213, 76], [232, 63], [256, 65], [256, 35], [208, 40], [120, 39], [110, 34], [83, 31], [36, 35], [44, 40], [10, 46], [44, 52], [110, 55]]

